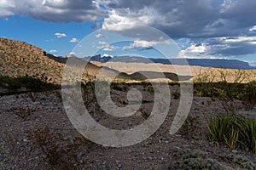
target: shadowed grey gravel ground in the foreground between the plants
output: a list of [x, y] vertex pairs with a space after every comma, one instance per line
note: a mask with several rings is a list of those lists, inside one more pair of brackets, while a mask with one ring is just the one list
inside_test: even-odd
[[[154, 94], [143, 90], [143, 87], [130, 88], [142, 90], [143, 100], [146, 101], [142, 108], [150, 111], [154, 104]], [[178, 91], [175, 86], [170, 88], [172, 93]], [[126, 93], [113, 90], [112, 99], [116, 105], [125, 105]], [[111, 148], [82, 138], [63, 109], [60, 91], [0, 97], [0, 129], [2, 132], [0, 134], [0, 169], [166, 169], [170, 163], [183, 161], [185, 158], [182, 156], [186, 156], [186, 150], [192, 157], [201, 156], [201, 161], [210, 160], [224, 169], [247, 168], [236, 161], [230, 161], [231, 158], [220, 157], [241, 157], [250, 165], [256, 164], [256, 156], [248, 151], [239, 148], [230, 150], [225, 144], [219, 144], [217, 147], [216, 144], [211, 144], [207, 140], [207, 118], [214, 114], [224, 113], [221, 102], [218, 100], [195, 97], [189, 112], [189, 117], [195, 118], [192, 125], [171, 135], [169, 130], [178, 103], [179, 99], [174, 99], [172, 96], [166, 121], [150, 138], [132, 146]], [[236, 114], [255, 118], [255, 108], [253, 111], [244, 111], [240, 101], [235, 101], [235, 106]], [[95, 113], [93, 109], [93, 107], [89, 109], [91, 116], [106, 127], [132, 128], [145, 120], [139, 111], [134, 116], [122, 119], [110, 117], [103, 111]], [[30, 135], [36, 129], [44, 129], [46, 126], [54, 133], [62, 135], [61, 161], [50, 162], [49, 156], [42, 150], [37, 140]], [[84, 142], [77, 148], [68, 146], [67, 144], [74, 143], [75, 138], [83, 139]], [[71, 155], [71, 150], [67, 150], [68, 147], [75, 150], [75, 161], [67, 161]], [[178, 169], [172, 166], [170, 168]], [[256, 167], [251, 167], [251, 169], [256, 169]]]

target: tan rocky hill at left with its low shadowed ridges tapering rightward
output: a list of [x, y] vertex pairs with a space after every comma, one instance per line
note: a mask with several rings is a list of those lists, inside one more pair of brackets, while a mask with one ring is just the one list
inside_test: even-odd
[[[78, 59], [77, 62], [84, 62], [83, 59]], [[67, 58], [55, 57], [52, 54], [46, 53], [42, 48], [32, 46], [26, 42], [20, 42], [15, 40], [9, 40], [0, 37], [0, 76], [8, 77], [46, 77], [48, 82], [53, 82], [55, 84], [61, 84], [63, 69], [67, 62]], [[75, 68], [75, 67], [74, 67]], [[75, 69], [74, 69], [75, 70]], [[71, 70], [72, 71], [72, 70]], [[84, 77], [82, 79], [86, 80], [90, 77], [96, 77], [99, 72], [102, 71], [104, 77], [112, 77], [112, 75], [118, 75], [116, 78], [121, 80], [146, 80], [142, 73], [135, 72], [133, 74], [127, 74], [125, 72], [119, 72], [105, 66], [97, 66], [92, 63], [86, 63], [84, 68]], [[152, 77], [160, 77], [159, 72], [154, 71], [144, 71], [143, 73], [150, 73]], [[183, 76], [177, 77], [177, 74], [172, 72], [164, 72], [166, 78], [177, 81], [187, 80], [191, 77]], [[70, 74], [71, 82], [76, 82], [73, 80], [73, 75]], [[1, 88], [1, 84], [0, 84]]]

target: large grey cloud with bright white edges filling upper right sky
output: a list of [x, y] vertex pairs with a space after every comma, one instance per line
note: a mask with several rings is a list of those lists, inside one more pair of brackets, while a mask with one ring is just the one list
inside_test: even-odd
[[[109, 8], [109, 17], [103, 22], [103, 30], [127, 30], [131, 32], [127, 36], [132, 36], [138, 30], [137, 24], [154, 26], [174, 39], [186, 37], [193, 42], [189, 48], [181, 51], [180, 56], [223, 58], [256, 53], [256, 18], [253, 17], [256, 15], [255, 0], [102, 2]], [[125, 49], [136, 46], [133, 43]]]

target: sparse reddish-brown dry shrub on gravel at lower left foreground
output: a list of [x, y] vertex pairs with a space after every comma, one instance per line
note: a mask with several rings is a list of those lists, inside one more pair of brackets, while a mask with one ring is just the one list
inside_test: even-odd
[[50, 165], [58, 165], [65, 169], [76, 169], [75, 165], [81, 164], [77, 152], [81, 146], [89, 143], [88, 140], [79, 137], [65, 139], [61, 133], [56, 133], [47, 126], [29, 132], [28, 136], [47, 156]]

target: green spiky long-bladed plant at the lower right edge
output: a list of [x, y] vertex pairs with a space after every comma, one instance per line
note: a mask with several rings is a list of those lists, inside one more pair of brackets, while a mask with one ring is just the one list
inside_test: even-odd
[[256, 121], [238, 116], [214, 116], [208, 120], [209, 139], [225, 142], [230, 149], [240, 146], [256, 154]]

